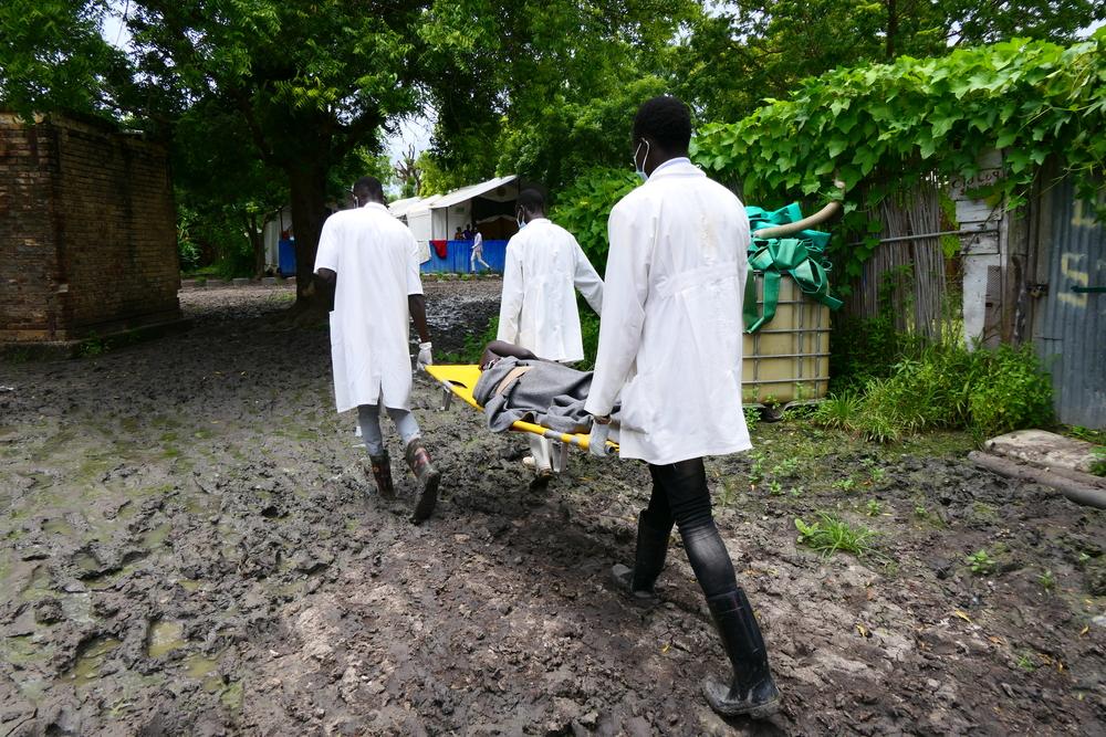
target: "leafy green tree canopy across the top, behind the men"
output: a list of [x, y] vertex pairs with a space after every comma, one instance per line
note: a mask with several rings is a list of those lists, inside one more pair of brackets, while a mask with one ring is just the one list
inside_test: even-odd
[[[108, 14], [123, 49], [102, 35]], [[699, 124], [737, 123], [832, 70], [1014, 34], [1066, 43], [1104, 18], [1091, 0], [8, 0], [0, 105], [161, 137], [189, 202], [237, 212], [286, 193], [307, 298], [327, 202], [354, 172], [390, 169], [380, 144], [407, 116], [437, 120], [404, 164], [408, 191], [520, 173], [555, 199], [593, 167], [628, 168], [634, 109], [661, 92]]]

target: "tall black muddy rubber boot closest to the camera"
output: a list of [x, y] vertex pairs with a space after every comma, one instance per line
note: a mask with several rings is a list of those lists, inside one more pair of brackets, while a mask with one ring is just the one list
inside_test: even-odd
[[760, 625], [745, 592], [738, 589], [707, 599], [722, 646], [733, 665], [729, 684], [711, 678], [702, 682], [710, 707], [722, 716], [747, 714], [762, 719], [780, 708], [780, 692], [768, 666], [768, 652]]

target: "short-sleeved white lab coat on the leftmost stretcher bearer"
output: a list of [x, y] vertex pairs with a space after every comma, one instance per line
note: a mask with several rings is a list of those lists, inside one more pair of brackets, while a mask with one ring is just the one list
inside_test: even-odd
[[315, 271], [337, 273], [331, 313], [334, 403], [410, 409], [407, 296], [422, 294], [418, 243], [376, 202], [335, 212], [323, 223]]

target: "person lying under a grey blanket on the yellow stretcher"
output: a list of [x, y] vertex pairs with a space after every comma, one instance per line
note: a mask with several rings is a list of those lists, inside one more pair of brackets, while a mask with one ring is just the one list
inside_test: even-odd
[[570, 434], [591, 430], [592, 417], [584, 411], [591, 371], [539, 358], [502, 340], [484, 348], [480, 370], [472, 398], [484, 408], [491, 431], [504, 432], [519, 420]]

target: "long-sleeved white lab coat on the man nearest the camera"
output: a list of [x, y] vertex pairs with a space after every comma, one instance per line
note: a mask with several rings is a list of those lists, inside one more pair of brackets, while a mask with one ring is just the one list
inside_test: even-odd
[[749, 218], [687, 159], [624, 197], [585, 409], [622, 400], [619, 455], [653, 464], [751, 448], [741, 408], [741, 297]]

